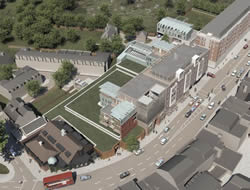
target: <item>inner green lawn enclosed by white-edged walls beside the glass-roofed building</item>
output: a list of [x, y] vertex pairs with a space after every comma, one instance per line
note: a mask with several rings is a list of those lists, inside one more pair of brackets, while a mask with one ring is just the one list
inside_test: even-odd
[[68, 107], [87, 117], [88, 119], [99, 123], [100, 106], [97, 105], [97, 103], [100, 101], [99, 86], [107, 81], [112, 82], [118, 86], [122, 86], [130, 79], [132, 79], [132, 77], [123, 74], [120, 71], [115, 71], [103, 81], [101, 81], [98, 85], [94, 86], [91, 90], [84, 93], [74, 102], [69, 104]]

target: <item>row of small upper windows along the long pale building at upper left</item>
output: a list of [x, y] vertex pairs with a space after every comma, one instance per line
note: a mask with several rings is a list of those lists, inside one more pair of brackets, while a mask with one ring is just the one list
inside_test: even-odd
[[[56, 58], [44, 58], [44, 57], [32, 57], [32, 56], [16, 56], [17, 60], [25, 60], [25, 61], [38, 61], [38, 62], [50, 62], [50, 63], [61, 63], [64, 61], [63, 59]], [[90, 62], [83, 60], [66, 60], [70, 61], [72, 64], [77, 65], [93, 65], [93, 66], [104, 66], [104, 62]]]

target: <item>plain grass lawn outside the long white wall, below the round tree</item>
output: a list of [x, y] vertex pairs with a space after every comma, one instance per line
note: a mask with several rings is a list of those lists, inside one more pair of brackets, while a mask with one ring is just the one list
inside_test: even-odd
[[65, 100], [70, 95], [72, 94], [69, 94], [57, 87], [53, 87], [44, 95], [41, 95], [40, 97], [36, 98], [36, 100], [32, 102], [32, 104], [40, 113], [45, 113], [54, 106], [56, 106], [58, 103]]

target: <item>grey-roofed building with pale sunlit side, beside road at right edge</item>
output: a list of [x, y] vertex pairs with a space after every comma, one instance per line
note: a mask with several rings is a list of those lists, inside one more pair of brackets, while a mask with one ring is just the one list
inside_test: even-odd
[[239, 115], [222, 108], [210, 120], [208, 129], [220, 135], [225, 146], [237, 151], [248, 135], [249, 126], [241, 122]]

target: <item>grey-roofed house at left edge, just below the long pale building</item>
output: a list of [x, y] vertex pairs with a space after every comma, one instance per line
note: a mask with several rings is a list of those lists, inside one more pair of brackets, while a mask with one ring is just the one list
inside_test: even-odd
[[10, 80], [0, 81], [0, 94], [7, 99], [22, 97], [27, 94], [25, 85], [27, 82], [37, 80], [40, 83], [43, 82], [43, 78], [35, 69], [25, 66], [17, 70], [13, 74], [13, 78]]

